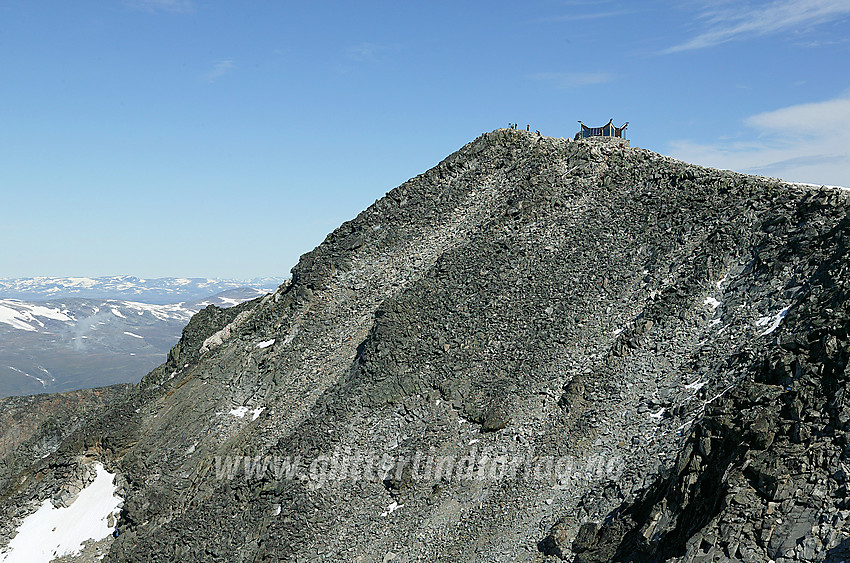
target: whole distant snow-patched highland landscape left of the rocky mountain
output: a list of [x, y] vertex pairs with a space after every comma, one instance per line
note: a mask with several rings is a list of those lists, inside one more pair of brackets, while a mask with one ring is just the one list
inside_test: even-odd
[[283, 281], [0, 279], [0, 397], [137, 382], [165, 361], [192, 315]]

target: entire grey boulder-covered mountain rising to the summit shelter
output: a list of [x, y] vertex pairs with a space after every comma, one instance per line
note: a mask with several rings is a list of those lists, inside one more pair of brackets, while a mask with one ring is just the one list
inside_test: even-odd
[[8, 476], [0, 545], [97, 460], [105, 561], [844, 560], [847, 209], [487, 133], [193, 317]]

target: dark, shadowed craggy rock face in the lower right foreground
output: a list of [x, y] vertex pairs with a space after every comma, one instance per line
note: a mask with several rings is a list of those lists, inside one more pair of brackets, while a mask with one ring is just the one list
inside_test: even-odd
[[850, 559], [844, 209], [813, 193], [765, 226], [752, 272], [789, 280], [781, 329], [730, 358], [740, 383], [707, 405], [675, 465], [585, 527], [577, 561]]

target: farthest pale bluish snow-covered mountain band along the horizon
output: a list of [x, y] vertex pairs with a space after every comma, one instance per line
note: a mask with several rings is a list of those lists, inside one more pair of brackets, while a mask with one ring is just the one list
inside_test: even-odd
[[135, 276], [0, 278], [0, 299], [44, 301], [68, 297], [166, 304], [203, 299], [229, 289], [273, 291], [285, 278], [138, 278]]

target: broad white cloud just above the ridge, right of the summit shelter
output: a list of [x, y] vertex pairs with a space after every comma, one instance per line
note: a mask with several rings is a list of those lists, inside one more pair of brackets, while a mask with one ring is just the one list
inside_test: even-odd
[[746, 141], [673, 142], [679, 159], [782, 178], [850, 187], [850, 96], [753, 115]]

